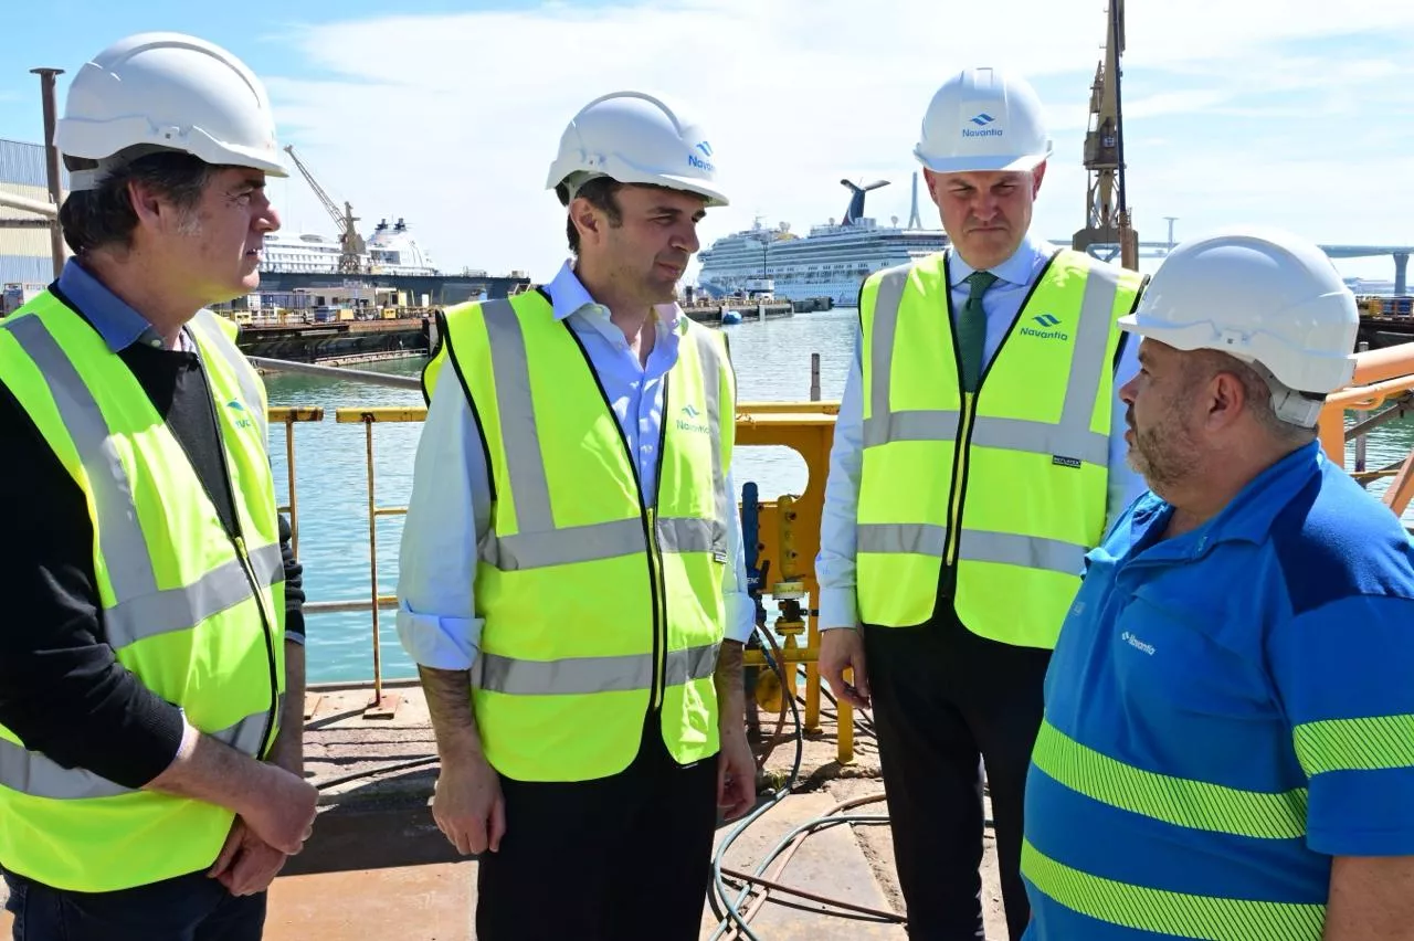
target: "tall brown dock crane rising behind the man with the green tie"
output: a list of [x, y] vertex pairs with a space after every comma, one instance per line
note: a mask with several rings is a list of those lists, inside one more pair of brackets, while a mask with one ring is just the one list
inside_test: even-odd
[[[1085, 136], [1086, 226], [1075, 233], [1072, 247], [1118, 246], [1120, 264], [1138, 270], [1138, 233], [1130, 225], [1124, 187], [1124, 122], [1120, 103], [1120, 57], [1124, 54], [1124, 0], [1110, 0], [1104, 59], [1090, 86], [1090, 129]], [[1107, 260], [1113, 260], [1113, 251]]]

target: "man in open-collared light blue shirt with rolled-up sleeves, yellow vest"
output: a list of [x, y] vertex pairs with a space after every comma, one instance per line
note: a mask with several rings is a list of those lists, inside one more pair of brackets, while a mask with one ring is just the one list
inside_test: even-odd
[[397, 627], [482, 941], [697, 938], [717, 810], [755, 800], [735, 384], [674, 300], [715, 162], [662, 97], [585, 105], [546, 181], [574, 257], [448, 309], [423, 374]]

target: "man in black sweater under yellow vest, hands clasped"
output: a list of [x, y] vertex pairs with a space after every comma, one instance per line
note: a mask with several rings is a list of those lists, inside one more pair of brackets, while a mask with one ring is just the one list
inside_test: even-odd
[[300, 565], [236, 328], [279, 218], [264, 89], [202, 40], [83, 65], [74, 257], [0, 321], [0, 868], [17, 938], [255, 941], [310, 835]]

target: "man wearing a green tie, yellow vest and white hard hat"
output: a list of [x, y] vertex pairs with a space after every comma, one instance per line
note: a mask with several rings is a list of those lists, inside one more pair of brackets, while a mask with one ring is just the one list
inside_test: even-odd
[[1116, 322], [1141, 278], [1031, 235], [1051, 141], [1021, 78], [949, 79], [913, 154], [950, 246], [860, 292], [816, 562], [820, 671], [874, 708], [911, 937], [983, 937], [986, 766], [1017, 938], [1051, 647], [1085, 552], [1143, 489], [1114, 394], [1137, 369]]

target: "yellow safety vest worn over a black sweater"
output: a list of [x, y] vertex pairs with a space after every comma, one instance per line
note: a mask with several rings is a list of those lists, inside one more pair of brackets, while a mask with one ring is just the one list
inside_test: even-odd
[[[0, 321], [0, 384], [83, 490], [105, 640], [197, 729], [250, 756], [279, 732], [284, 567], [266, 456], [266, 397], [235, 325], [191, 322], [211, 384], [239, 535], [181, 444], [88, 322], [44, 292]], [[0, 866], [76, 892], [209, 866], [232, 811], [130, 790], [27, 750], [0, 726]]]

